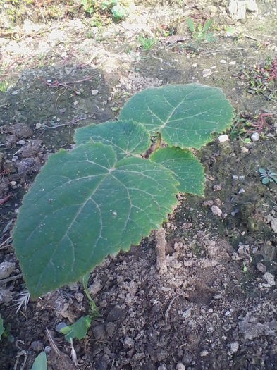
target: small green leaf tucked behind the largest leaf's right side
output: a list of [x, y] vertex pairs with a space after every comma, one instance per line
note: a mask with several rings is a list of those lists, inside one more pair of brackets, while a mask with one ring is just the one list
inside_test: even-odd
[[180, 192], [203, 195], [204, 168], [190, 150], [161, 148], [151, 154], [150, 159], [173, 171], [180, 183]]

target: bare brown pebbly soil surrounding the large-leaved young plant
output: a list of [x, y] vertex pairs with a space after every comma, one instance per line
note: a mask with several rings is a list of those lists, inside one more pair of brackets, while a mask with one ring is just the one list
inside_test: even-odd
[[[137, 1], [125, 20], [101, 27], [81, 13], [17, 25], [0, 14], [1, 369], [31, 369], [42, 350], [53, 370], [277, 369], [277, 185], [262, 184], [258, 171], [277, 172], [277, 75], [265, 75], [277, 58], [276, 4], [258, 2], [258, 13], [238, 21], [225, 1], [154, 3]], [[197, 42], [187, 16], [214, 18], [215, 42]], [[151, 49], [140, 34], [156, 40]], [[116, 118], [146, 87], [190, 82], [230, 99], [230, 140], [214, 136], [195, 152], [205, 195], [180, 195], [169, 216], [166, 273], [156, 270], [154, 235], [92, 271], [101, 316], [74, 340], [77, 367], [55, 328], [88, 314], [81, 283], [16, 312], [25, 286], [10, 235], [21, 199], [48, 155], [72, 147], [75, 128]]]

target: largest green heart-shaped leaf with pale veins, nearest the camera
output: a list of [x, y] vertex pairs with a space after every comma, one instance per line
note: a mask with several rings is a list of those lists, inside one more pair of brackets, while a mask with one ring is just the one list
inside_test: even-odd
[[171, 171], [117, 161], [111, 146], [52, 154], [23, 198], [13, 245], [32, 297], [75, 282], [108, 254], [138, 245], [176, 204]]

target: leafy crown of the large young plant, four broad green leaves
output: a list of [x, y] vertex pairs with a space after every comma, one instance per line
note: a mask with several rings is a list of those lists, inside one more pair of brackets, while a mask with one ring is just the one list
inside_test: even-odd
[[[161, 228], [178, 192], [202, 195], [204, 171], [188, 148], [200, 149], [232, 118], [216, 87], [166, 85], [135, 94], [118, 121], [76, 130], [75, 149], [49, 156], [13, 229], [30, 295], [78, 281], [108, 254], [139, 245]], [[156, 146], [145, 158], [150, 135]]]

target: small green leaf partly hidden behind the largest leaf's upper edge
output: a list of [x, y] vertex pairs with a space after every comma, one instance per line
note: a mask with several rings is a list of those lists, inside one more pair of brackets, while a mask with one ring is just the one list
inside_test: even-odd
[[142, 154], [150, 147], [149, 134], [143, 125], [135, 122], [111, 121], [88, 125], [75, 131], [75, 143], [102, 142], [112, 145], [118, 159]]

